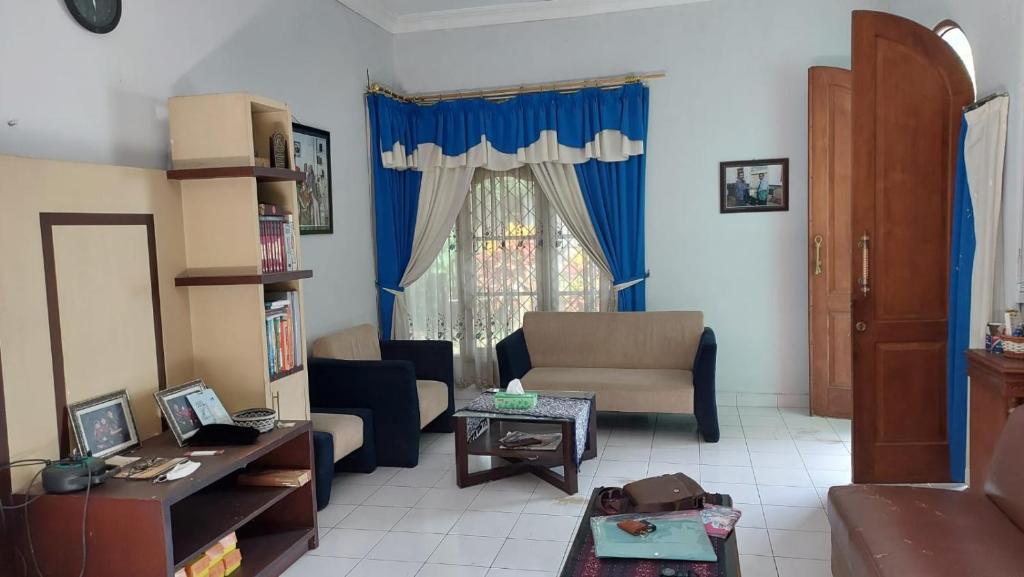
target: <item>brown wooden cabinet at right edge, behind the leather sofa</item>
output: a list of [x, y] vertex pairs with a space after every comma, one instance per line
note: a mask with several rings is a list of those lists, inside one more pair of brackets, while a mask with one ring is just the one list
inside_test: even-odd
[[1024, 405], [1024, 361], [981, 349], [967, 353], [971, 377], [971, 478], [981, 490], [995, 443], [1014, 409]]

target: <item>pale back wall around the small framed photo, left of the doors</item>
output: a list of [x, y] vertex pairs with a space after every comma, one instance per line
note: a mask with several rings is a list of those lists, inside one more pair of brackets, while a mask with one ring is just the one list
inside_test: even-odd
[[[807, 394], [807, 68], [849, 66], [855, 0], [715, 0], [396, 37], [418, 92], [666, 71], [651, 85], [648, 307], [701, 310], [719, 388]], [[719, 214], [720, 161], [788, 157], [791, 209]]]

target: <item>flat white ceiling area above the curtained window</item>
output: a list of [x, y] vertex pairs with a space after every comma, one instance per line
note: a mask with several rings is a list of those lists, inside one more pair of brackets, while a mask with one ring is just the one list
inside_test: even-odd
[[338, 0], [393, 34], [571, 18], [713, 0]]

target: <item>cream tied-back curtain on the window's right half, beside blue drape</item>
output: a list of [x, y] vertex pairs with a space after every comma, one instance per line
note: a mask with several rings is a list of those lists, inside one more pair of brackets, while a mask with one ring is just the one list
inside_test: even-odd
[[[560, 164], [556, 162], [542, 162], [531, 164], [534, 176], [541, 191], [544, 192], [552, 208], [558, 213], [566, 228], [580, 242], [587, 256], [594, 261], [601, 273], [608, 279], [612, 278], [611, 266], [604, 257], [604, 250], [601, 242], [594, 231], [594, 223], [591, 222], [590, 212], [587, 211], [587, 202], [583, 198], [583, 191], [580, 190], [580, 178], [575, 173], [575, 166], [571, 164]], [[602, 291], [601, 310], [615, 311], [618, 306], [616, 290]]]

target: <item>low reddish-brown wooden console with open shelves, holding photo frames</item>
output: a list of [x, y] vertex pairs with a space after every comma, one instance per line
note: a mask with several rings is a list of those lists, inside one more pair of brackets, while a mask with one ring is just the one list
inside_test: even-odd
[[[172, 576], [186, 562], [236, 531], [240, 577], [275, 577], [317, 546], [313, 481], [303, 487], [244, 487], [253, 468], [313, 468], [308, 421], [260, 435], [256, 444], [196, 457], [190, 477], [163, 484], [111, 479], [89, 495], [85, 575]], [[177, 457], [187, 451], [170, 432], [154, 437], [133, 457]], [[77, 575], [82, 561], [85, 492], [43, 495], [28, 509], [44, 575]], [[24, 527], [23, 527], [24, 531]]]

